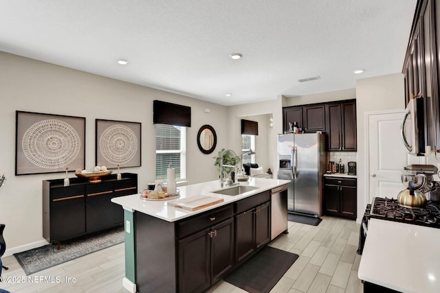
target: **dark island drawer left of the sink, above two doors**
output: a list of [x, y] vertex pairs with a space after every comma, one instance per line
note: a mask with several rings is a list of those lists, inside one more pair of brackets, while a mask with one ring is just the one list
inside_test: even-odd
[[232, 204], [228, 204], [225, 207], [219, 207], [218, 209], [207, 211], [201, 215], [195, 215], [188, 220], [182, 220], [181, 222], [177, 223], [177, 237], [181, 238], [186, 235], [190, 235], [203, 228], [207, 228], [223, 220], [231, 218], [232, 215]]

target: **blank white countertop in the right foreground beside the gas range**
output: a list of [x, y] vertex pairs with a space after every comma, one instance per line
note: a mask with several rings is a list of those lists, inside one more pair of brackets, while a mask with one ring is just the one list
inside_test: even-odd
[[440, 228], [371, 219], [358, 277], [399, 292], [440, 292]]

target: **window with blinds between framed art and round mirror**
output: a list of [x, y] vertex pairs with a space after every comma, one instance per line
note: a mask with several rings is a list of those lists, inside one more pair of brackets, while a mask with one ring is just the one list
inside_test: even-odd
[[171, 163], [176, 180], [186, 180], [186, 128], [155, 124], [156, 126], [156, 180], [166, 179]]

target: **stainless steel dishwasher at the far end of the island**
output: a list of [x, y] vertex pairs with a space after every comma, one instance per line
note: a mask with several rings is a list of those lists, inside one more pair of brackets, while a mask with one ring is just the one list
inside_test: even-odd
[[270, 193], [270, 239], [287, 232], [287, 187], [282, 185]]

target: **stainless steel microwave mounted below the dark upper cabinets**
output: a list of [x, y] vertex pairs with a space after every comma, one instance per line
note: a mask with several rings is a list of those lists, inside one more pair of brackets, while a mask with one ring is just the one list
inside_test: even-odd
[[425, 121], [423, 97], [413, 97], [406, 106], [401, 121], [401, 139], [410, 154], [422, 155], [425, 152]]

